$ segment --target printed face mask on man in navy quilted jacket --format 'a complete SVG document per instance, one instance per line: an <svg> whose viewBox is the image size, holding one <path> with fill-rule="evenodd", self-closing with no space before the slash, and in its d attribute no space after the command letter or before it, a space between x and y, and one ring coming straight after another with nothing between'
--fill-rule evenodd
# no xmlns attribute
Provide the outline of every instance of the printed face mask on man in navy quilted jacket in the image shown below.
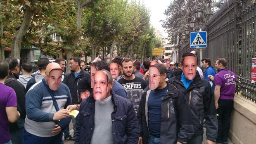
<svg viewBox="0 0 256 144"><path fill-rule="evenodd" d="M97 71L94 75L93 98L102 100L107 97L108 78L103 71Z"/></svg>

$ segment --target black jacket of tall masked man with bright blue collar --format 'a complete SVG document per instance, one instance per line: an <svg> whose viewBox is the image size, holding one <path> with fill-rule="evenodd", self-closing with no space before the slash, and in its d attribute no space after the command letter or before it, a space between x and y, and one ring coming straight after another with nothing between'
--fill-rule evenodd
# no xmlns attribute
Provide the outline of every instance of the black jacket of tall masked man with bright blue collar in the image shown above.
<svg viewBox="0 0 256 144"><path fill-rule="evenodd" d="M206 138L215 142L218 132L218 121L211 84L205 79L202 80L197 72L194 81L186 89L181 81L181 74L182 71L175 78L168 80L168 82L175 85L175 87L184 93L185 98L190 105L194 136L202 135L204 133L203 121L205 118Z"/></svg>

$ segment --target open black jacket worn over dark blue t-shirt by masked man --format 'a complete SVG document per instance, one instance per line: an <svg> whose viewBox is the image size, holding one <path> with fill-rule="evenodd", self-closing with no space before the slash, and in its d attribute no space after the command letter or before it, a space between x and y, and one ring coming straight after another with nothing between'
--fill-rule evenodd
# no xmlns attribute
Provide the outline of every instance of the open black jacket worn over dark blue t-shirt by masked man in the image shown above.
<svg viewBox="0 0 256 144"><path fill-rule="evenodd" d="M161 103L161 144L176 144L177 140L186 144L187 140L193 135L190 107L180 90L169 83L167 85L168 91ZM149 87L144 91L147 92L142 95L137 117L139 119L140 136L142 136L143 144L147 144L149 139L147 107Z"/></svg>

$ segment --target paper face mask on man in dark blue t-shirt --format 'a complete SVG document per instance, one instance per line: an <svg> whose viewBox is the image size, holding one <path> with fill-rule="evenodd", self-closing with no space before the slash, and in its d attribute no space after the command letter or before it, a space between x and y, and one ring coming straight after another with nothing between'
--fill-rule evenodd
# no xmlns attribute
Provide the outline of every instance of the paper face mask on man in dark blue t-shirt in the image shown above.
<svg viewBox="0 0 256 144"><path fill-rule="evenodd" d="M154 66L149 67L149 89L154 90L159 86L160 73Z"/></svg>

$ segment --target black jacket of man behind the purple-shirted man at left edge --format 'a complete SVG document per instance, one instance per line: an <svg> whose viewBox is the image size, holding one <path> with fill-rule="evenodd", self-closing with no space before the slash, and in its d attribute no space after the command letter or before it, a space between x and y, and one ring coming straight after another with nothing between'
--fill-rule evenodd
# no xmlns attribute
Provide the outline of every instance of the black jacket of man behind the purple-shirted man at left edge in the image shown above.
<svg viewBox="0 0 256 144"><path fill-rule="evenodd" d="M18 80L19 78L15 73L10 72L9 76L5 80L5 85L12 87L17 96L17 110L21 114L17 122L10 123L9 130L18 130L19 128L24 128L25 118L26 118L26 108L25 108L25 95L26 89Z"/></svg>

